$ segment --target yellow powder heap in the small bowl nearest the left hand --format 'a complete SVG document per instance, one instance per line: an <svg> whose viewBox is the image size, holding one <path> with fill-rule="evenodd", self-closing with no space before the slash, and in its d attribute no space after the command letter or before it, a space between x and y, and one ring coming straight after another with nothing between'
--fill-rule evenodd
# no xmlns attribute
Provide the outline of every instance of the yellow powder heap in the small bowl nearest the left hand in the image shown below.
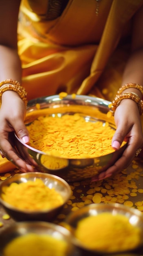
<svg viewBox="0 0 143 256"><path fill-rule="evenodd" d="M18 209L38 211L52 209L63 204L62 196L48 188L40 179L17 184L11 183L2 191L2 199Z"/></svg>

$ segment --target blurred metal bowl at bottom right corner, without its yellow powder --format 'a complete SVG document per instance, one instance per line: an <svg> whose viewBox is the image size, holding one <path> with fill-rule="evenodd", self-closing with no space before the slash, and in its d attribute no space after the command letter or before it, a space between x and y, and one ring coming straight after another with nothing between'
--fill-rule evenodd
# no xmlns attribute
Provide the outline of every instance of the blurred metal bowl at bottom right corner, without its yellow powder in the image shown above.
<svg viewBox="0 0 143 256"><path fill-rule="evenodd" d="M108 213L111 213L112 215L121 214L123 216L126 216L129 219L130 224L132 224L134 227L139 227L141 229L141 243L138 245L137 248L134 248L132 250L128 248L128 250L126 251L108 253L102 250L99 251L99 250L87 249L87 247L75 237L74 235L75 230L77 229L77 225L80 220L87 218L88 216L97 216L98 214L103 212L108 212ZM84 206L78 209L75 212L70 213L67 216L65 222L66 222L65 227L67 227L73 234L73 237L74 237L73 243L77 246L77 248L79 248L81 255L84 255L84 256L86 255L87 256L125 255L126 256L126 253L127 253L127 255L130 256L132 253L134 253L133 255L137 256L138 254L136 253L143 252L143 214L137 209L125 207L123 204L119 204L119 203L89 204L87 206ZM89 230L89 227L88 227L88 230ZM95 232L96 232L96 227L95 227ZM88 233L88 236L89 236L89 233ZM112 243L114 243L114 240L112 241Z"/></svg>

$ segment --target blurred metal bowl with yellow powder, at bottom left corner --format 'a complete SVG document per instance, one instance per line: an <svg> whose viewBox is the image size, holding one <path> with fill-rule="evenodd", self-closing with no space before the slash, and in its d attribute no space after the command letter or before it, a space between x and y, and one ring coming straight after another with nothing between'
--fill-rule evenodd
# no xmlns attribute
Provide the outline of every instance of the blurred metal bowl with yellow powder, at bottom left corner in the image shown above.
<svg viewBox="0 0 143 256"><path fill-rule="evenodd" d="M0 234L1 256L73 256L70 232L49 222L17 222Z"/></svg>

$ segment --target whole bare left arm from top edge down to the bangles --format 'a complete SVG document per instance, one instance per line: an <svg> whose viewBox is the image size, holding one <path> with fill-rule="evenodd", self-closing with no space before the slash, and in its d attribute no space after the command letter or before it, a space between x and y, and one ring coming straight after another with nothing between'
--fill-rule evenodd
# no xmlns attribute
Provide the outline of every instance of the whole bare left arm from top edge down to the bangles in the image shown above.
<svg viewBox="0 0 143 256"><path fill-rule="evenodd" d="M21 82L21 63L17 53L17 25L20 0L0 1L0 81Z"/></svg>

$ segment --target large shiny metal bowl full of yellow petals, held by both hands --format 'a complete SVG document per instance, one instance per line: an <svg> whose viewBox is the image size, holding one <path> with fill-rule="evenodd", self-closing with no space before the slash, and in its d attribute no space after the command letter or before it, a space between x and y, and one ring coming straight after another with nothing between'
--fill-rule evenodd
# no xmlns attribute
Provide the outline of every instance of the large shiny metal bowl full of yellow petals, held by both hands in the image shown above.
<svg viewBox="0 0 143 256"><path fill-rule="evenodd" d="M67 182L98 175L123 154L111 146L116 130L109 101L84 95L53 95L29 101L25 125L29 144L15 134L21 157L38 171Z"/></svg>

